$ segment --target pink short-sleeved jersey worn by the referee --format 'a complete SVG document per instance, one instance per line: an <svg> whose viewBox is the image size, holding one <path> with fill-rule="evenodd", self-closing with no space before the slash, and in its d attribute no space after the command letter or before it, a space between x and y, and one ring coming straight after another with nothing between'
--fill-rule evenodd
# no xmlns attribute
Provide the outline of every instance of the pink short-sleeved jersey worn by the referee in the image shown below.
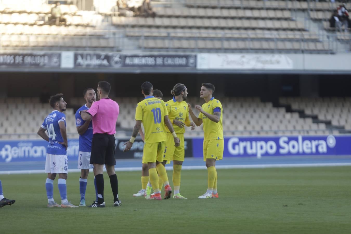
<svg viewBox="0 0 351 234"><path fill-rule="evenodd" d="M116 121L119 114L117 102L109 98L101 98L91 105L87 113L93 117L93 134L106 133L113 135L116 133Z"/></svg>

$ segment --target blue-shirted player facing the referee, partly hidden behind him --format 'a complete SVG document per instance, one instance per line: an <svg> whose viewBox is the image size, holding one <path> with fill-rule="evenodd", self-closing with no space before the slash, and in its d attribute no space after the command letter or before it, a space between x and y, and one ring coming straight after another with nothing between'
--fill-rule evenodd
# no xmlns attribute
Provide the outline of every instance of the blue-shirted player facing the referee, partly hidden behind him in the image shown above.
<svg viewBox="0 0 351 234"><path fill-rule="evenodd" d="M88 110L94 101L96 101L96 93L93 88L87 88L83 92L86 103L78 109L75 113L75 125L79 134L79 154L78 154L78 169L80 171L79 178L79 191L80 191L80 203L79 206L85 206L85 191L88 183L89 169L93 168L93 165L89 163L91 155L91 142L93 140L93 122L91 119L83 120L79 112ZM95 195L98 200L98 192L96 187L96 181L94 177Z"/></svg>

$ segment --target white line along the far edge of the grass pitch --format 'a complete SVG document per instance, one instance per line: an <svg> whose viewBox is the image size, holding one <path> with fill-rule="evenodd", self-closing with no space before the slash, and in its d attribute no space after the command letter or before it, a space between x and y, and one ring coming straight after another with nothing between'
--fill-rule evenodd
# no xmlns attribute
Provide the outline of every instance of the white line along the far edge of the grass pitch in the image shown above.
<svg viewBox="0 0 351 234"><path fill-rule="evenodd" d="M217 169L240 169L240 168L287 168L287 167L340 167L351 166L349 162L342 163L295 163L295 164L254 164L254 165L218 165ZM183 166L182 170L201 170L206 166ZM173 171L173 167L166 167L167 171ZM93 171L91 169L91 171ZM106 171L106 169L104 169ZM135 172L141 171L141 167L119 167L115 168L116 172ZM68 169L68 172L80 172L80 169ZM41 174L44 170L24 170L24 171L0 171L0 175L12 174Z"/></svg>

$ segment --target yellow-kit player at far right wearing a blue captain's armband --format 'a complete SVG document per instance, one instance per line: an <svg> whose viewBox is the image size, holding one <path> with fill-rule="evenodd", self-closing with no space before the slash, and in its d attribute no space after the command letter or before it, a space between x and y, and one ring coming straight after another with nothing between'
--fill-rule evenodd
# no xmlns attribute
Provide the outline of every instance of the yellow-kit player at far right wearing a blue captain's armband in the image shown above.
<svg viewBox="0 0 351 234"><path fill-rule="evenodd" d="M202 106L195 108L200 112L196 117L189 106L189 114L196 126L204 123L204 161L207 167L207 191L199 198L218 198L217 193L217 170L216 160L223 159L223 107L219 100L214 99L212 94L214 85L203 83L201 85L200 98L205 99Z"/></svg>

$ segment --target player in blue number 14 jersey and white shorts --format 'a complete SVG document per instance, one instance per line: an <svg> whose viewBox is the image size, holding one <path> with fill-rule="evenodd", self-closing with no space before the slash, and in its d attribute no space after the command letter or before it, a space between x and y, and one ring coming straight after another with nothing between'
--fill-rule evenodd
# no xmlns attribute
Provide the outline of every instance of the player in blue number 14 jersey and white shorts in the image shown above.
<svg viewBox="0 0 351 234"><path fill-rule="evenodd" d="M47 207L78 207L67 200L67 132L66 132L66 111L67 103L63 94L56 94L50 97L50 106L54 109L44 120L38 130L38 135L49 142L46 150L45 172L47 173L45 188L48 198ZM45 133L47 131L48 134ZM59 174L58 187L61 195L61 206L54 201L53 184L56 174Z"/></svg>

